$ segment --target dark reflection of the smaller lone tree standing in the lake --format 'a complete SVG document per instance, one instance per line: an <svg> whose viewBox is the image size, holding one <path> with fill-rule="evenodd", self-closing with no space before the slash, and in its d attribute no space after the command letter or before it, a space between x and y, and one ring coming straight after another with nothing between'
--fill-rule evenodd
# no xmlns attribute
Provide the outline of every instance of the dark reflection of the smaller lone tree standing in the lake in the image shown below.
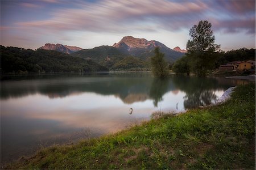
<svg viewBox="0 0 256 170"><path fill-rule="evenodd" d="M163 100L163 95L168 91L168 79L155 78L150 88L150 98L154 100L155 107Z"/></svg>

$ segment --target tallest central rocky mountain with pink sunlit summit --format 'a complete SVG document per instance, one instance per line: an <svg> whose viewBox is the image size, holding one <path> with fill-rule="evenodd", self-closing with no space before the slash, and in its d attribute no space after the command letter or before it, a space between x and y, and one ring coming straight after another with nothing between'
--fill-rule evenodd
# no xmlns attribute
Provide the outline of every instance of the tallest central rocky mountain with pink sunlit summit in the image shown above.
<svg viewBox="0 0 256 170"><path fill-rule="evenodd" d="M160 52L165 54L167 61L174 62L176 59L184 56L184 53L176 52L161 42L137 39L132 36L123 37L121 41L113 45L114 48L119 49L122 53L141 59L149 59L151 56L154 56L156 46L159 46Z"/></svg>

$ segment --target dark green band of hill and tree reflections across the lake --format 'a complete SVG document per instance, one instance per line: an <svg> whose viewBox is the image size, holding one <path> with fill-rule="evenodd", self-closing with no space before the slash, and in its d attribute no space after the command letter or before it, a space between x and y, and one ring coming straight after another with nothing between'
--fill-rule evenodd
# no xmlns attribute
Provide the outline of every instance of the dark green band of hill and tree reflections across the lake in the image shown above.
<svg viewBox="0 0 256 170"><path fill-rule="evenodd" d="M47 95L53 99L94 92L100 95L115 95L123 103L131 104L147 99L154 100L157 107L168 91L186 93L185 108L206 105L216 100L214 91L234 86L225 78L197 78L172 76L168 79L152 78L150 74L92 74L92 75L43 75L1 82L1 99L32 94Z"/></svg>

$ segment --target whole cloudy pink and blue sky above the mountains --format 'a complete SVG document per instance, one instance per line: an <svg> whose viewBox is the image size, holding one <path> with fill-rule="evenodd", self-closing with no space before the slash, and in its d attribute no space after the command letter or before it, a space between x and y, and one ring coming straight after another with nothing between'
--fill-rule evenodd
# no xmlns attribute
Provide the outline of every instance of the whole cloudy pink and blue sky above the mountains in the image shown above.
<svg viewBox="0 0 256 170"><path fill-rule="evenodd" d="M4 46L37 49L46 43L84 49L124 36L186 48L189 29L212 24L224 51L255 48L255 0L0 0Z"/></svg>

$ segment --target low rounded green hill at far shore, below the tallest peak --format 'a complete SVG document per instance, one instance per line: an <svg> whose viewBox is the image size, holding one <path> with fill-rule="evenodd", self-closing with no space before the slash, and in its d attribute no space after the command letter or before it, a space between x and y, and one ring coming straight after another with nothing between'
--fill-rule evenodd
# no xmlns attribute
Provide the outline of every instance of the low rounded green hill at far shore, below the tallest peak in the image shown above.
<svg viewBox="0 0 256 170"><path fill-rule="evenodd" d="M126 57L115 63L110 71L150 71L150 63L136 57Z"/></svg>

